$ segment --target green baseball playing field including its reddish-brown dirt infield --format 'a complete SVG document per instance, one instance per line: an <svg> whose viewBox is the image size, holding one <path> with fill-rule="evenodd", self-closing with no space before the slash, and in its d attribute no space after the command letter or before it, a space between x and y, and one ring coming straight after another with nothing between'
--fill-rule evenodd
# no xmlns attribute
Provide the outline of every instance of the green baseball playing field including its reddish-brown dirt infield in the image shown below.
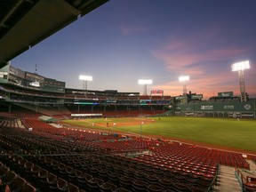
<svg viewBox="0 0 256 192"><path fill-rule="evenodd" d="M154 122L152 121L154 119ZM84 121L67 120L68 124L108 130L112 132L133 132L140 135L140 122L142 135L155 135L161 138L175 138L177 140L193 140L205 144L237 148L256 152L256 121L199 118L199 117L158 117L154 118L111 118L111 119L86 119ZM147 121L150 121L148 124ZM151 122L152 121L152 122ZM110 128L106 127L106 124ZM112 124L116 123L116 127ZM133 125L129 124L133 122ZM124 124L124 125L123 125ZM129 125L127 125L129 124Z"/></svg>

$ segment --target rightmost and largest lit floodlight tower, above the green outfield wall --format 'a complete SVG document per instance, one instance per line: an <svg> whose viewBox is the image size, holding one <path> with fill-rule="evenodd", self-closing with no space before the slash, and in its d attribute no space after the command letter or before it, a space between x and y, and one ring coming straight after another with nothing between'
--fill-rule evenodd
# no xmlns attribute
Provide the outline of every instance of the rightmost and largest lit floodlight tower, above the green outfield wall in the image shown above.
<svg viewBox="0 0 256 192"><path fill-rule="evenodd" d="M232 71L238 71L241 102L245 102L247 100L247 97L246 97L245 83L244 83L244 69L250 68L249 60L234 63L232 64L231 68L232 68Z"/></svg>

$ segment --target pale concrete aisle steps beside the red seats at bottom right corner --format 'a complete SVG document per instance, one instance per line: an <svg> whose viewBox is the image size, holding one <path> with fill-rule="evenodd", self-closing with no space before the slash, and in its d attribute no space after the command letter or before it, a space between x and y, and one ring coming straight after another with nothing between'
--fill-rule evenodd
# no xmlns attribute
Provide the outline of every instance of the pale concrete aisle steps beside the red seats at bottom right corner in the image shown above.
<svg viewBox="0 0 256 192"><path fill-rule="evenodd" d="M217 185L214 187L216 192L241 192L242 188L239 185L235 176L235 168L225 165L220 165Z"/></svg>

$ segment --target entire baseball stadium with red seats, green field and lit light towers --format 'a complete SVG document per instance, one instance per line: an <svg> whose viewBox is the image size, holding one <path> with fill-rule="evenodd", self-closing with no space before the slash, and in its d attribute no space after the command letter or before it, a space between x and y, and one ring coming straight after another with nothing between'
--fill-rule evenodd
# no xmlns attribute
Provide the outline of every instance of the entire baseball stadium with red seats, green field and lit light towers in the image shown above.
<svg viewBox="0 0 256 192"><path fill-rule="evenodd" d="M42 23L7 47L13 31L35 25L33 12L51 13L51 3L0 3L10 24L0 34L1 191L256 191L256 98L245 92L244 73L241 94L224 90L203 100L186 84L177 96L147 93L146 79L143 94L88 90L90 76L80 76L83 89L68 88L9 62L28 50L23 41L36 44L76 20L71 8L85 15L106 2L65 0L61 25Z"/></svg>

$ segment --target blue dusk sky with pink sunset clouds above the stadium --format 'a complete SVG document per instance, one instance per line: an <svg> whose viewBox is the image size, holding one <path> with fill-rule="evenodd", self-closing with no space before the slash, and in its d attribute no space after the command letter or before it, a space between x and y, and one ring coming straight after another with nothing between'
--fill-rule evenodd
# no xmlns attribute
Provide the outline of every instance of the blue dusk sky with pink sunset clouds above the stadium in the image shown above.
<svg viewBox="0 0 256 192"><path fill-rule="evenodd" d="M245 89L256 98L255 0L110 0L11 60L12 66L83 89L143 93L187 90L204 100L240 94L233 63L250 60Z"/></svg>

